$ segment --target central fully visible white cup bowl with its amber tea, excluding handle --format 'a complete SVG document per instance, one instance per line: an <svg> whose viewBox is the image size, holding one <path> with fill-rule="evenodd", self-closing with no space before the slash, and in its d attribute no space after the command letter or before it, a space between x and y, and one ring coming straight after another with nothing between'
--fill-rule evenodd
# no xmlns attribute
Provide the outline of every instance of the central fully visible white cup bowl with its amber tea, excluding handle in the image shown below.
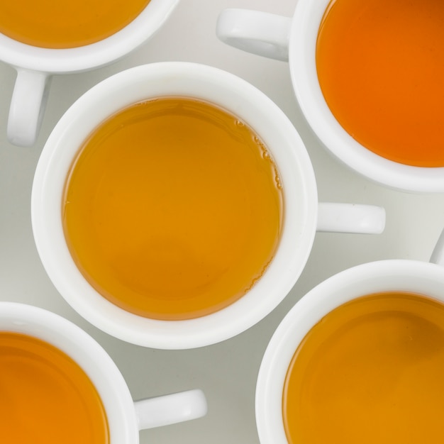
<svg viewBox="0 0 444 444"><path fill-rule="evenodd" d="M127 112L139 112L148 104L160 106L148 118L150 124L160 128L156 131L155 149L147 148L153 132L142 131L138 138L143 143L139 143L138 152L132 152L131 147L137 143L128 136L133 128L128 128L138 126L140 119L131 117L133 123L122 131L111 129L113 137L123 135L117 143L120 146L116 157L106 157L110 152L107 149L100 154L101 148L85 156L92 167L88 171L88 162L84 164L87 175L81 194L89 199L89 209L85 206L77 213L77 219L72 219L71 228L78 231L79 238L71 242L65 236L62 210L72 204L70 198L66 199L70 187L65 189L65 184L67 177L70 181L78 179L76 167L72 166L83 163L80 148L89 140L95 140L96 147L102 142L106 146L108 136L102 138L100 131L94 133L96 128L104 122L106 127L119 113L127 116ZM174 111L171 107L165 111L162 104L172 106ZM175 123L169 121L172 115ZM111 123L109 128L112 126ZM201 135L206 127L211 128L211 143L207 138L206 143L195 146L192 141L196 134ZM157 149L174 144L173 154L165 155L165 150ZM211 150L209 145L217 149ZM126 154L122 156L122 152ZM108 154L103 157L104 153ZM101 157L114 169L97 167ZM161 168L156 167L155 159L163 162ZM119 172L123 165L129 165L124 174ZM140 194L140 184L147 177L152 181L150 187L145 186L145 194ZM100 199L88 186L91 181L99 187ZM100 189L106 182L113 183L112 189ZM256 184L256 189L251 189L251 183ZM214 199L216 194L218 199ZM176 349L231 338L260 321L282 301L311 250L317 207L316 182L304 144L289 119L265 94L216 68L166 62L136 67L104 80L65 113L38 162L32 222L46 272L79 314L128 342ZM94 220L91 211L102 213ZM70 242L88 250L83 255L87 260L94 259L99 245L99 255L108 261L106 278L120 280L118 284L131 287L133 294L157 281L155 290L165 299L160 315L157 313L155 318L146 307L132 312L128 301L123 306L116 304L110 289L102 292L94 288L88 277L90 264L78 265L81 261L75 257L77 253L72 254ZM196 246L199 254L195 254ZM117 257L116 248L122 247L127 250ZM234 265L225 250L233 253L230 255L235 258ZM133 265L138 261L137 266ZM113 269L112 262L118 264L117 269ZM175 262L179 266L174 269L171 264ZM253 270L245 274L243 262L248 267L253 263ZM180 276L182 271L188 274L186 279ZM235 291L228 289L228 299L213 302L209 310L202 305L207 287L218 279L223 281L228 274L231 277L227 282L241 274L244 280ZM199 279L203 284L197 291L203 297L193 294ZM182 282L182 288L177 282ZM162 299L158 294L157 299ZM197 310L193 308L196 302L200 304ZM183 311L184 306L189 310L191 304L194 313L185 318L180 313L171 316L169 304L176 306L178 313L181 305Z"/></svg>

